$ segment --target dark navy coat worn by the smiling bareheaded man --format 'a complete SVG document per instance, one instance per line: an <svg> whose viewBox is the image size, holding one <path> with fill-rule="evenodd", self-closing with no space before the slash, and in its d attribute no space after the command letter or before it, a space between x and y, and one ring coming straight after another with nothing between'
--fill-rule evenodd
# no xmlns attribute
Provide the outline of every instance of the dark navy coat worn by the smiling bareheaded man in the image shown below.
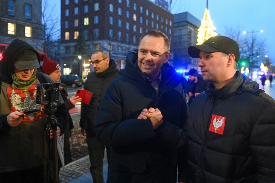
<svg viewBox="0 0 275 183"><path fill-rule="evenodd" d="M155 174L153 182L175 183L177 151L157 141L150 119L137 117L144 108L159 108L164 123L182 128L188 110L182 76L168 62L164 64L157 95L136 60L135 51L127 55L126 67L108 87L96 120L98 140L111 146L108 182L137 182L139 175L150 171Z"/></svg>

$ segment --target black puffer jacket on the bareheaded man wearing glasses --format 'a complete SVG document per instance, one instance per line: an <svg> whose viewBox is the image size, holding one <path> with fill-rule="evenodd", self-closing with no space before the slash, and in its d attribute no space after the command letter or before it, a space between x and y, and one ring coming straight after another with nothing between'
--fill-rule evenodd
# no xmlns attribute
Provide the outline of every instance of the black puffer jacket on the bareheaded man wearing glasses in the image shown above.
<svg viewBox="0 0 275 183"><path fill-rule="evenodd" d="M109 67L101 73L92 72L87 76L84 89L91 91L93 96L89 105L81 103L80 127L84 127L91 137L95 137L95 122L103 95L109 84L120 76L115 61L110 58Z"/></svg>

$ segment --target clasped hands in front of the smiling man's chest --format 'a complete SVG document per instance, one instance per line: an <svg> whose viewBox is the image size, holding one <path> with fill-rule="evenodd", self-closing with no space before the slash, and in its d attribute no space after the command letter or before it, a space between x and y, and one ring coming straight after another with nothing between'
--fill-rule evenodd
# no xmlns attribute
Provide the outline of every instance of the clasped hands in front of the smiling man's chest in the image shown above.
<svg viewBox="0 0 275 183"><path fill-rule="evenodd" d="M163 116L158 108L154 109L153 107L150 107L149 109L143 109L137 119L150 118L153 128L157 129L163 123L162 117Z"/></svg>

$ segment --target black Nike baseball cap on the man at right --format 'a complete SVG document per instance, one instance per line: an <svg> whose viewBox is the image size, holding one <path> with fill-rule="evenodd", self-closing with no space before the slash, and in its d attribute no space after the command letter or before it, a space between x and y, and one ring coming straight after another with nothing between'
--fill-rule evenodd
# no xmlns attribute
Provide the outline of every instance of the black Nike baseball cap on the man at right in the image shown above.
<svg viewBox="0 0 275 183"><path fill-rule="evenodd" d="M235 61L240 60L240 49L237 42L226 36L213 36L204 41L201 45L192 45L188 47L188 54L193 58L200 57L200 51L204 52L223 52L225 54L234 54Z"/></svg>

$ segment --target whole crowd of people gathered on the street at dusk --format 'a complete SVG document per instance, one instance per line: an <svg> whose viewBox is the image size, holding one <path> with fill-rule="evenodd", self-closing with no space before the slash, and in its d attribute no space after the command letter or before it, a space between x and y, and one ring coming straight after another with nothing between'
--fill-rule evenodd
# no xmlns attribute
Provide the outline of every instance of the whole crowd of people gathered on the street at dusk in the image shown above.
<svg viewBox="0 0 275 183"><path fill-rule="evenodd" d="M93 95L89 104L81 103L80 127L94 183L104 183L105 149L108 183L275 182L275 101L236 71L237 42L214 36L189 46L188 54L200 58L200 73L190 69L186 80L169 64L170 41L159 30L142 35L124 69L108 52L92 53L94 72L83 89ZM46 115L23 113L39 109L39 83L60 82L58 127L46 136L64 134L65 164L72 161L68 111L81 98L68 99L60 76L56 61L24 41L15 39L3 53L0 182L44 181Z"/></svg>

